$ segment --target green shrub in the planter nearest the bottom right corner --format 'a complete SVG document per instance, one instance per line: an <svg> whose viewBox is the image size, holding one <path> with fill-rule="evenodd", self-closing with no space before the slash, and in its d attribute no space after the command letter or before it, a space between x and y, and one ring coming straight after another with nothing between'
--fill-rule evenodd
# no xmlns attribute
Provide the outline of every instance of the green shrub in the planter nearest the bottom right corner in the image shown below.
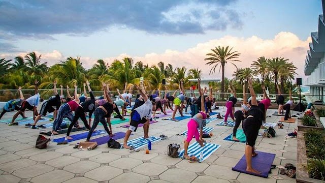
<svg viewBox="0 0 325 183"><path fill-rule="evenodd" d="M325 160L309 159L307 171L310 178L325 180Z"/></svg>

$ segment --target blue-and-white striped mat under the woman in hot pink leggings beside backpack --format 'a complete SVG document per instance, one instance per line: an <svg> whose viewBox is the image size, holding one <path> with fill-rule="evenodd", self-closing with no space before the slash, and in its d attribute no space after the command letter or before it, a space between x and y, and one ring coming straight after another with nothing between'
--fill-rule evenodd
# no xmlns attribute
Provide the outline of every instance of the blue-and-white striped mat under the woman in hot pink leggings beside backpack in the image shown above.
<svg viewBox="0 0 325 183"><path fill-rule="evenodd" d="M203 152L203 160L202 160L203 162L204 160L209 158L209 156L214 151L216 151L219 147L220 145L213 144L213 143L206 143L203 147L201 147L201 145L198 142L195 142L188 146L187 155L189 157L195 156L196 158L200 159L200 154L201 152ZM181 150L179 157L183 158L183 155L184 155L184 149Z"/></svg>

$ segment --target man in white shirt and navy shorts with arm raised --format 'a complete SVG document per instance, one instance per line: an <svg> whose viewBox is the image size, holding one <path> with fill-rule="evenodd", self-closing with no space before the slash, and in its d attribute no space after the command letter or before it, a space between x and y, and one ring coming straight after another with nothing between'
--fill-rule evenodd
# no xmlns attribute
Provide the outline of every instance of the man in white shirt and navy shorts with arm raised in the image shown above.
<svg viewBox="0 0 325 183"><path fill-rule="evenodd" d="M139 124L144 124L143 125L144 138L149 137L149 121L151 118L152 111L154 111L156 109L155 103L151 102L148 99L148 96L142 91L142 89L138 85L135 85L135 87L139 90L139 93L145 103L143 105L135 108L131 112L130 127L128 128L128 130L125 133L124 142L123 142L124 148L130 148L127 145L127 140L129 138L129 136L131 135L131 132L137 131Z"/></svg>

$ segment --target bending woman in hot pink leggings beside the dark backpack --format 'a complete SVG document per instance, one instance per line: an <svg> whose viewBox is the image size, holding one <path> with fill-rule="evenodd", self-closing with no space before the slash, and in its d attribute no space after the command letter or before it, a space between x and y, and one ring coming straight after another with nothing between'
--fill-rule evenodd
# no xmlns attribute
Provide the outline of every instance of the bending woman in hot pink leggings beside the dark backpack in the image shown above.
<svg viewBox="0 0 325 183"><path fill-rule="evenodd" d="M184 158L193 162L198 161L196 157L189 157L187 155L187 149L189 142L192 140L193 136L197 140L197 142L201 145L201 147L204 146L202 134L203 134L203 127L206 126L206 119L209 117L209 115L206 114L205 107L204 107L204 90L199 88L201 90L201 109L199 113L195 114L187 123L187 138L184 143ZM200 134L199 131L200 130Z"/></svg>

